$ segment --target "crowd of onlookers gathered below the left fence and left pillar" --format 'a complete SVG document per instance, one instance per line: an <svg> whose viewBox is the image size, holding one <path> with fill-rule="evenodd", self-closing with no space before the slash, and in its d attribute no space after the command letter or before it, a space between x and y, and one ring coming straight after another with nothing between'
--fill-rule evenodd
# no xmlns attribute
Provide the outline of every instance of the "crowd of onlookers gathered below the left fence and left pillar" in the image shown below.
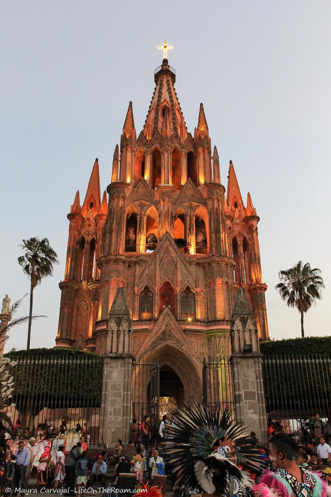
<svg viewBox="0 0 331 497"><path fill-rule="evenodd" d="M159 439L166 424L171 424L170 414L164 415L160 423ZM68 489L74 495L87 484L105 486L107 469L113 467L115 486L121 473L135 474L136 484L140 486L157 475L164 475L165 464L159 455L158 444L150 443L150 416L145 415L141 423L132 421L132 438L127 445L118 439L114 450L93 454L88 451L89 435L86 423L75 428L67 428L63 420L58 429L39 424L35 436L30 436L28 428L22 429L20 420L14 424L14 439L7 439L7 469L4 486L10 489L7 494L17 495L17 489L25 489L30 478L37 486Z"/></svg>

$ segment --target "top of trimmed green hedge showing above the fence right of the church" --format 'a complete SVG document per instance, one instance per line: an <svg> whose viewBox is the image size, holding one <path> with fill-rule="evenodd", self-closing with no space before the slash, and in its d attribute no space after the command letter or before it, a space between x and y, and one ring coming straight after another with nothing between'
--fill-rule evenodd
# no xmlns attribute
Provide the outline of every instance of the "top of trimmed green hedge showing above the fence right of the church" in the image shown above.
<svg viewBox="0 0 331 497"><path fill-rule="evenodd" d="M309 336L307 338L285 338L282 340L260 341L260 350L270 355L319 354L331 357L331 336Z"/></svg>

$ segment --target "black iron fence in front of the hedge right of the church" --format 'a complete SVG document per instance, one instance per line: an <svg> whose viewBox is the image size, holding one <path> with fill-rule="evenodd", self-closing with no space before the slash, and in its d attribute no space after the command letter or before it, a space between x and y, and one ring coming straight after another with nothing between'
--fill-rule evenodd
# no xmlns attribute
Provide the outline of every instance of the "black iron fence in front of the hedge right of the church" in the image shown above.
<svg viewBox="0 0 331 497"><path fill-rule="evenodd" d="M262 362L269 423L304 441L314 436L315 416L331 420L331 359L270 356Z"/></svg>

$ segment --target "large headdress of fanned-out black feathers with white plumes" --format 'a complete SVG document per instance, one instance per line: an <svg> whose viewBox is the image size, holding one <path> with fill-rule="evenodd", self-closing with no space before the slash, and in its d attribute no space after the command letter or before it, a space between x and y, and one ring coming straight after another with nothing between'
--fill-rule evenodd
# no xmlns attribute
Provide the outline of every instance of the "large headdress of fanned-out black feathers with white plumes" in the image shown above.
<svg viewBox="0 0 331 497"><path fill-rule="evenodd" d="M235 486L252 486L252 480L237 465L256 474L266 468L250 433L232 420L227 409L222 413L220 407L211 411L200 404L184 406L176 413L175 425L167 425L164 434L168 436L162 442L164 454L178 486L199 485L208 494L223 494L229 489L231 477ZM235 447L236 463L231 459L230 446L215 450L218 440L227 438Z"/></svg>

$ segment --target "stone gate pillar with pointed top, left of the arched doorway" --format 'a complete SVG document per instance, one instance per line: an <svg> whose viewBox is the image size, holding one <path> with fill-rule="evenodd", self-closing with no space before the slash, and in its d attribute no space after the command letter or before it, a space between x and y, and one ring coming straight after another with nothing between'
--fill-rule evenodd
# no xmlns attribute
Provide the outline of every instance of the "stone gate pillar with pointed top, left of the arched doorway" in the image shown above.
<svg viewBox="0 0 331 497"><path fill-rule="evenodd" d="M130 437L132 383L132 319L123 287L117 289L109 312L107 334L97 349L103 357L99 440L114 447Z"/></svg>

